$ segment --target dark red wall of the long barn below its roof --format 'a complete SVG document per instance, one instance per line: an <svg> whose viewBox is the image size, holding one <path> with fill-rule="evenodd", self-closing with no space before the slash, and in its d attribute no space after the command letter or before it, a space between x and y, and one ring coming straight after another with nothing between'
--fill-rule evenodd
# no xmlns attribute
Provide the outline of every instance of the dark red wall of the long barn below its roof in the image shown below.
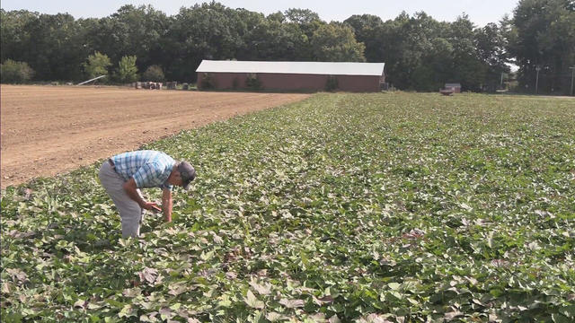
<svg viewBox="0 0 575 323"><path fill-rule="evenodd" d="M245 89L246 73L210 73L216 89ZM265 90L324 91L328 75L321 74L257 74ZM198 73L198 84L204 73ZM339 91L379 92L380 76L335 75ZM235 80L235 81L234 81ZM235 86L234 86L235 85Z"/></svg>

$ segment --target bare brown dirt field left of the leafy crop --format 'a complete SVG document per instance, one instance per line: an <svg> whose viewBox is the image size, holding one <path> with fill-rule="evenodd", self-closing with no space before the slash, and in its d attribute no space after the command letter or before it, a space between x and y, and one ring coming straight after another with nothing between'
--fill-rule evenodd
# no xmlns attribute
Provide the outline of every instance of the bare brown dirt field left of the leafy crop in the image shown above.
<svg viewBox="0 0 575 323"><path fill-rule="evenodd" d="M309 94L2 85L2 188Z"/></svg>

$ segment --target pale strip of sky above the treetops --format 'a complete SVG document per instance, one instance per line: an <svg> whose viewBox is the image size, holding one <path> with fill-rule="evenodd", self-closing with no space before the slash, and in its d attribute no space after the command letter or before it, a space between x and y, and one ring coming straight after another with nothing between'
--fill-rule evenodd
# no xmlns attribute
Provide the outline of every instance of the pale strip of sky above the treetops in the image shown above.
<svg viewBox="0 0 575 323"><path fill-rule="evenodd" d="M183 0L2 0L6 11L25 9L38 13L70 13L78 18L102 18L115 13L124 4L151 4L168 15L177 14L182 6L190 7L207 1ZM289 8L310 9L326 22L342 22L352 14L374 14L384 21L394 19L405 11L412 15L423 11L438 21L453 22L466 13L477 27L499 22L507 13L513 16L518 0L219 0L231 8L244 8L258 13L276 13Z"/></svg>

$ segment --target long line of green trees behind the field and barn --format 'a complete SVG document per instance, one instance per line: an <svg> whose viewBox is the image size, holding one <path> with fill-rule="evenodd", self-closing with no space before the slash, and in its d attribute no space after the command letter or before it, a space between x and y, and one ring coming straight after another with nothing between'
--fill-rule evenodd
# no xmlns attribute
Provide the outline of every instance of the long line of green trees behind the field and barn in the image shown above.
<svg viewBox="0 0 575 323"><path fill-rule="evenodd" d="M575 1L520 0L512 17L476 27L462 14L438 22L426 13L383 21L352 15L324 22L307 9L264 15L217 2L168 16L151 5L103 18L0 11L3 82L81 81L110 74L195 82L202 59L385 62L403 90L437 91L461 83L495 91L516 64L518 89L569 93L575 65Z"/></svg>

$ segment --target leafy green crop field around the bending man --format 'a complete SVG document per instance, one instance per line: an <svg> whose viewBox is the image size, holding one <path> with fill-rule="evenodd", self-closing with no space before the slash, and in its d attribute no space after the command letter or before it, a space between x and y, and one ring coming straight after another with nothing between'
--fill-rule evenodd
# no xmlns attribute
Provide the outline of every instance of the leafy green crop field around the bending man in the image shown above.
<svg viewBox="0 0 575 323"><path fill-rule="evenodd" d="M575 320L575 100L318 94L146 148L198 179L137 240L101 162L2 192L3 322Z"/></svg>

